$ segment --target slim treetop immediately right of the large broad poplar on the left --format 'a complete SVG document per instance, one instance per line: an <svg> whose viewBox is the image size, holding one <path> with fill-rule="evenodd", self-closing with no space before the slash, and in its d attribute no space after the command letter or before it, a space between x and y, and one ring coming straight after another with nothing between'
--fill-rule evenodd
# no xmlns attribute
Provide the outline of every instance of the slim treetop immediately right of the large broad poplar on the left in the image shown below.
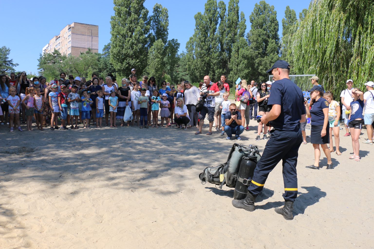
<svg viewBox="0 0 374 249"><path fill-rule="evenodd" d="M164 44L168 42L169 36L169 13L168 9L156 3L153 6L153 15L150 16L151 22L151 46L154 41L161 40Z"/></svg>

